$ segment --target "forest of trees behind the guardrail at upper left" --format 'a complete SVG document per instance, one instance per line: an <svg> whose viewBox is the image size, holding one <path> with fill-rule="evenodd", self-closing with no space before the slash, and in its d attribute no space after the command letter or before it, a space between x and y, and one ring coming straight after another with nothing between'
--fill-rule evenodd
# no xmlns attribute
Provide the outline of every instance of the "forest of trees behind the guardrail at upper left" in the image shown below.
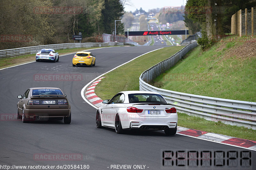
<svg viewBox="0 0 256 170"><path fill-rule="evenodd" d="M111 34L127 0L1 0L0 35L32 35L31 42L0 41L0 49L74 42ZM116 22L117 34L124 24Z"/></svg>

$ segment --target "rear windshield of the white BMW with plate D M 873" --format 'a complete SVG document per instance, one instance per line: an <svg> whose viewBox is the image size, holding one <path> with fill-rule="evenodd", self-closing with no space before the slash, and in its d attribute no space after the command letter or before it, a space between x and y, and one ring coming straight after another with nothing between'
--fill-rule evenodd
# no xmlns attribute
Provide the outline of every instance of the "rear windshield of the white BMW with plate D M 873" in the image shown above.
<svg viewBox="0 0 256 170"><path fill-rule="evenodd" d="M129 94L129 103L166 103L163 96L158 94L137 93Z"/></svg>

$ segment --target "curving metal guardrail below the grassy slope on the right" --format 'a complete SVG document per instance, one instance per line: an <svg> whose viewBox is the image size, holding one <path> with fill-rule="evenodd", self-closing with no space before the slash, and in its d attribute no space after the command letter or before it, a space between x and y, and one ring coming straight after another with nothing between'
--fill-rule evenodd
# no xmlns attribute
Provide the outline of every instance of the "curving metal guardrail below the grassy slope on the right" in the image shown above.
<svg viewBox="0 0 256 170"><path fill-rule="evenodd" d="M208 96L199 96L156 88L147 82L174 66L182 56L196 46L196 42L182 48L170 58L149 68L140 75L140 90L156 91L177 111L203 117L206 120L221 121L226 124L245 126L256 129L256 103ZM146 82L145 82L146 81Z"/></svg>

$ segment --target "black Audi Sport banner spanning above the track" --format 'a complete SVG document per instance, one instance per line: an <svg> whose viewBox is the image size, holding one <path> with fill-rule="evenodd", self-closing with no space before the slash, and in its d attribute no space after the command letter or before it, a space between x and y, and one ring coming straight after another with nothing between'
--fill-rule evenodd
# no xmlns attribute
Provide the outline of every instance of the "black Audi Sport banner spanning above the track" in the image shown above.
<svg viewBox="0 0 256 170"><path fill-rule="evenodd" d="M129 31L129 36L139 35L185 35L186 30L168 30L168 31ZM188 34L188 30L187 30ZM125 32L127 36L127 31Z"/></svg>

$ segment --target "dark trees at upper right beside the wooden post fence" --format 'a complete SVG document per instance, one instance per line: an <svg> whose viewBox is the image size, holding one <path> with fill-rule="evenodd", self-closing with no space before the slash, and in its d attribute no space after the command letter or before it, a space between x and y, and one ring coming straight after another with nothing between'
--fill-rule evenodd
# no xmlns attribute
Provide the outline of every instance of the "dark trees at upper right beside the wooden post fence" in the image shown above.
<svg viewBox="0 0 256 170"><path fill-rule="evenodd" d="M187 0L184 21L193 33L202 29L215 39L230 33L233 14L255 5L255 0Z"/></svg>

